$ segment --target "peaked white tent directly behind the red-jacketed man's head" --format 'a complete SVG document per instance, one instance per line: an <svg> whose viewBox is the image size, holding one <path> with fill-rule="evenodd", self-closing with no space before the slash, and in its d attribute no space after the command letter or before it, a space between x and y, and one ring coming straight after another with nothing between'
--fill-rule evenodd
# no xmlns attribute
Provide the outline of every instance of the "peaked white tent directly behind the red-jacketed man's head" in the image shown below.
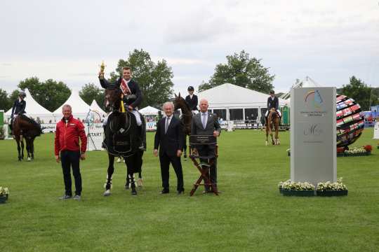
<svg viewBox="0 0 379 252"><path fill-rule="evenodd" d="M72 107L72 116L74 116L74 118L80 118L81 120L85 120L90 111L90 106L81 99L79 92L77 90L71 90L71 95L67 101L53 112L57 121L62 117L62 107L65 104L69 104Z"/></svg>

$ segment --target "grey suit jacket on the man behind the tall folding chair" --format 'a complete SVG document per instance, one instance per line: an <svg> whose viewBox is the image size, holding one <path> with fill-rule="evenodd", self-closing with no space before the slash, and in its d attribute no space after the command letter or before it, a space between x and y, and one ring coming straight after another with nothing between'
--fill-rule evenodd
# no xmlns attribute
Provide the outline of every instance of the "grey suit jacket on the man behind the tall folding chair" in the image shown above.
<svg viewBox="0 0 379 252"><path fill-rule="evenodd" d="M220 124L218 123L217 116L208 111L208 120L206 122L206 127L204 129L203 124L201 123L201 112L197 113L192 118L192 135L213 135L213 132L217 130L221 132Z"/></svg>

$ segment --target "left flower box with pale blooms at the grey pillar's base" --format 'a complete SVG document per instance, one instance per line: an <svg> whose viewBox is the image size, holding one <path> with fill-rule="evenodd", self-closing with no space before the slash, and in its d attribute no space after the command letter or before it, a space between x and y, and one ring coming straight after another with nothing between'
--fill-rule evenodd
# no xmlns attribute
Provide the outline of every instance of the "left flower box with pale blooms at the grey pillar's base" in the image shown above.
<svg viewBox="0 0 379 252"><path fill-rule="evenodd" d="M279 192L285 196L314 196L314 185L308 182L284 181L279 183Z"/></svg>

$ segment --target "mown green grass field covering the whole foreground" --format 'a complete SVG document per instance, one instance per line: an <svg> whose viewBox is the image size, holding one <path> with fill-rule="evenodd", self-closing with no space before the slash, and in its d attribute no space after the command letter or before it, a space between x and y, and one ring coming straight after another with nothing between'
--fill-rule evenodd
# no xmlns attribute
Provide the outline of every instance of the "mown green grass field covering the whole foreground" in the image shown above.
<svg viewBox="0 0 379 252"><path fill-rule="evenodd" d="M371 144L367 157L338 158L347 197L284 197L277 183L289 178L288 132L281 146L265 146L260 131L222 132L220 196L189 197L197 169L182 161L185 195L159 195L159 160L148 134L144 187L124 189L126 167L116 164L112 195L103 197L107 155L88 152L81 162L81 202L60 201L62 169L53 134L35 141L35 160L18 162L15 141L0 141L0 251L379 251L379 150L373 130L354 146Z"/></svg>

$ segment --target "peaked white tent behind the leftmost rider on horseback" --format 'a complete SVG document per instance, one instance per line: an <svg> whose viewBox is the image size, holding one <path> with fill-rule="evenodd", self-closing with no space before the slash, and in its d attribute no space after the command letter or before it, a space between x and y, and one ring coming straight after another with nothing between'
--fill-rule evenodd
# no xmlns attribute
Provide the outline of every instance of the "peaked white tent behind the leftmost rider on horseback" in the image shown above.
<svg viewBox="0 0 379 252"><path fill-rule="evenodd" d="M43 106L41 106L38 102L36 102L36 100L33 99L32 94L30 94L27 88L25 88L25 94L25 112L27 113L27 116L34 118L34 120L36 120L38 117L41 121L44 121L44 123L48 123L49 120L53 120L53 113L51 113ZM12 109L6 111L6 116L11 117L11 114Z"/></svg>

